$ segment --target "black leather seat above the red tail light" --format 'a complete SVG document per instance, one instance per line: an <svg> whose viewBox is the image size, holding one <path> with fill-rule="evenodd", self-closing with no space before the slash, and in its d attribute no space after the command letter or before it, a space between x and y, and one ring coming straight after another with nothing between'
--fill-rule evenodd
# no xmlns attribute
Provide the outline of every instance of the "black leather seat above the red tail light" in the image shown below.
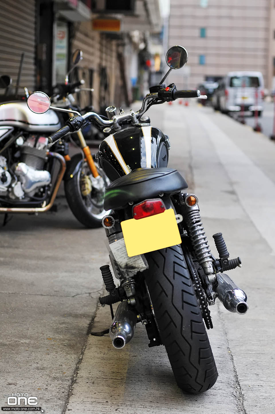
<svg viewBox="0 0 275 414"><path fill-rule="evenodd" d="M173 168L137 168L117 178L105 191L104 209L118 210L129 202L155 198L159 193L176 193L188 188L179 171Z"/></svg>

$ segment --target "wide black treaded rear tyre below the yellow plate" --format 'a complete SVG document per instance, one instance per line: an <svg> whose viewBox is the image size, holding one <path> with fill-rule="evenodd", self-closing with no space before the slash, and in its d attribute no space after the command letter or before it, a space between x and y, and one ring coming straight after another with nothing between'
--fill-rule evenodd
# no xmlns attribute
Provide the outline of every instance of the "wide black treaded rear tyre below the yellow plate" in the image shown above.
<svg viewBox="0 0 275 414"><path fill-rule="evenodd" d="M218 373L181 247L155 250L146 258L145 282L176 382L191 394L207 391Z"/></svg>

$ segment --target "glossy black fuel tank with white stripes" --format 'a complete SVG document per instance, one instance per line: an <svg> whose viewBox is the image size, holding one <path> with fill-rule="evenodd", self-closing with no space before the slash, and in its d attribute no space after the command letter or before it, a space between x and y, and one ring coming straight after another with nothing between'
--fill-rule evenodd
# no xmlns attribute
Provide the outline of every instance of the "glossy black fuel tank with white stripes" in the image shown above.
<svg viewBox="0 0 275 414"><path fill-rule="evenodd" d="M99 145L99 165L111 181L136 168L166 167L169 138L158 128L129 126Z"/></svg>

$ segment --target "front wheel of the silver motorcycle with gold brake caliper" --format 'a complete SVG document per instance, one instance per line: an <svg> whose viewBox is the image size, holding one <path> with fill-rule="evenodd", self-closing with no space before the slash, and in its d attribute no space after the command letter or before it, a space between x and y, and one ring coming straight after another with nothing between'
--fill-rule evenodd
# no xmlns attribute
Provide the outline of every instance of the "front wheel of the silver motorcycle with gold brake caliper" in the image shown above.
<svg viewBox="0 0 275 414"><path fill-rule="evenodd" d="M78 158L72 158L71 171L78 165ZM99 180L91 175L86 161L80 163L77 172L64 183L65 196L72 213L84 226L92 229L101 227L101 220L108 212L104 210L105 188L109 178L96 166Z"/></svg>

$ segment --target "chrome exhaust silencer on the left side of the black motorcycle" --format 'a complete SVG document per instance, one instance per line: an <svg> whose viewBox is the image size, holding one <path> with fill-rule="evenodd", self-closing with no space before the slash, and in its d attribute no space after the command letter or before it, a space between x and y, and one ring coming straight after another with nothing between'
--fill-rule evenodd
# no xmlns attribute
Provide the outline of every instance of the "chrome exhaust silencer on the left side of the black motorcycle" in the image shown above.
<svg viewBox="0 0 275 414"><path fill-rule="evenodd" d="M133 338L137 315L128 308L127 301L121 302L113 318L113 323L109 330L115 348L123 348L130 339Z"/></svg>

